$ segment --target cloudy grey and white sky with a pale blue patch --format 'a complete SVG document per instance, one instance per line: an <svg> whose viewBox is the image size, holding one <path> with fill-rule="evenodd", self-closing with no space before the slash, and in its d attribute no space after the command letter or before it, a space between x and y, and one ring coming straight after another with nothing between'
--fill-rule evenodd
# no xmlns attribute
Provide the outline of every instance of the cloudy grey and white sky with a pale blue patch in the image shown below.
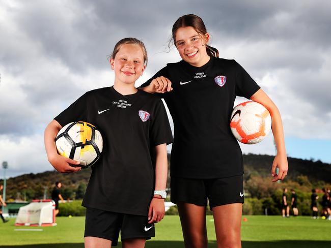
<svg viewBox="0 0 331 248"><path fill-rule="evenodd" d="M8 176L51 170L47 123L87 90L113 84L115 43L144 41L149 64L139 86L180 60L167 45L173 23L189 13L202 17L220 57L236 59L278 106L288 156L331 163L330 10L316 0L1 0L0 163L8 161ZM275 152L272 135L241 147Z"/></svg>

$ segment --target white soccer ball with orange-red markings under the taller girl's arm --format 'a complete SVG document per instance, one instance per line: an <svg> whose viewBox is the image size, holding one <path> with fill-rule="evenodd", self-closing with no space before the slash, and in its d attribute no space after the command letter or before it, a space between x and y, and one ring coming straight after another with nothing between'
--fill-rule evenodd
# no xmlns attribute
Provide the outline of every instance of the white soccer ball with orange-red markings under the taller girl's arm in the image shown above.
<svg viewBox="0 0 331 248"><path fill-rule="evenodd" d="M243 102L232 111L230 128L234 137L244 144L261 142L270 132L269 111L257 102Z"/></svg>

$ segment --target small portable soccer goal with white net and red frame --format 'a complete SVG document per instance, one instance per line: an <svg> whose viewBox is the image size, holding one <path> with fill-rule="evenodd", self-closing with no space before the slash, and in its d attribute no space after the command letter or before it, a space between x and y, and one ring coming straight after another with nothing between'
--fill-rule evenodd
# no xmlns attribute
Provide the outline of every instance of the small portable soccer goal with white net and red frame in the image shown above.
<svg viewBox="0 0 331 248"><path fill-rule="evenodd" d="M53 200L33 200L20 207L15 226L56 226L55 202Z"/></svg>

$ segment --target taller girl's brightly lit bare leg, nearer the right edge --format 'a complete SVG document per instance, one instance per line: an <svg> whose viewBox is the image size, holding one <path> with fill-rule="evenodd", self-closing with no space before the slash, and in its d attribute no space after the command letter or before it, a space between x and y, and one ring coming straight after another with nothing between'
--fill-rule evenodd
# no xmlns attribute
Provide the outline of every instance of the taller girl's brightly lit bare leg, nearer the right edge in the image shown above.
<svg viewBox="0 0 331 248"><path fill-rule="evenodd" d="M212 208L217 247L241 247L240 226L242 203L232 203Z"/></svg>

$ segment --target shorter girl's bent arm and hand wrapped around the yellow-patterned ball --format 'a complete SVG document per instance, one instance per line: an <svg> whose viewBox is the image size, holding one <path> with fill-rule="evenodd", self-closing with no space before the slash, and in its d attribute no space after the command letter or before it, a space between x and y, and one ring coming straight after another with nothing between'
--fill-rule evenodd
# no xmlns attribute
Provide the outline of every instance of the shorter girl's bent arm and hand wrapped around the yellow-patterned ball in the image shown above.
<svg viewBox="0 0 331 248"><path fill-rule="evenodd" d="M56 120L52 120L51 122L49 122L45 129L44 140L48 161L57 171L62 173L79 171L81 170L81 167L72 167L69 165L79 165L78 161L65 158L57 152L55 138L57 137L61 129L62 126Z"/></svg>

